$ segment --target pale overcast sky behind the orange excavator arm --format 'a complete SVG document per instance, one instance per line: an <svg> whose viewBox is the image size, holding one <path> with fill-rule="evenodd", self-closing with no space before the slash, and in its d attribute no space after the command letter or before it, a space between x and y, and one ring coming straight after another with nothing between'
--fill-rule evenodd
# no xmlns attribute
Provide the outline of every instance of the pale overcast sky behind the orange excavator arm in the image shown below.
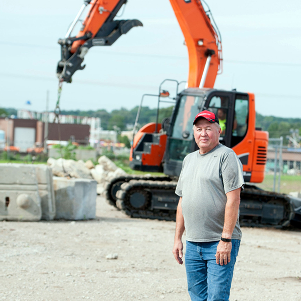
<svg viewBox="0 0 301 301"><path fill-rule="evenodd" d="M82 3L0 2L0 106L43 111L49 90L49 107L54 109L60 60L57 40L65 36ZM255 93L256 111L263 115L301 117L300 2L207 3L223 45L223 73L215 88ZM121 19L138 19L143 27L131 29L110 47L89 50L86 68L73 75L72 84L63 85L62 109L131 109L143 93L158 93L164 79L187 79L187 49L168 0L128 0ZM173 93L173 86L165 88ZM157 99L145 99L145 105L155 107Z"/></svg>

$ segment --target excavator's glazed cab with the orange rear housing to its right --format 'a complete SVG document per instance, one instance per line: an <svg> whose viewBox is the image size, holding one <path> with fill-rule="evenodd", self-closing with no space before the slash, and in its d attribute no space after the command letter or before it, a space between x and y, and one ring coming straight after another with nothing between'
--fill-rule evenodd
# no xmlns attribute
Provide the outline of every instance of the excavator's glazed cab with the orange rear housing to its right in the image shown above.
<svg viewBox="0 0 301 301"><path fill-rule="evenodd" d="M254 95L235 90L188 88L180 93L168 133L164 173L178 177L185 156L198 149L192 127L194 117L202 110L212 111L219 118L220 143L238 155L245 181L262 182L268 133L255 130Z"/></svg>

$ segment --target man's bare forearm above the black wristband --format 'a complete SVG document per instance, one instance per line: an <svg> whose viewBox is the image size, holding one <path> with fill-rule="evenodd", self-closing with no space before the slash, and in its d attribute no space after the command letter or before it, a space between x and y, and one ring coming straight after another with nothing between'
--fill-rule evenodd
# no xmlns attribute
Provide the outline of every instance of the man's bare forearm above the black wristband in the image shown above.
<svg viewBox="0 0 301 301"><path fill-rule="evenodd" d="M240 204L240 188L230 191L227 194L227 203L225 208L225 221L222 237L230 239L235 228L239 204Z"/></svg>

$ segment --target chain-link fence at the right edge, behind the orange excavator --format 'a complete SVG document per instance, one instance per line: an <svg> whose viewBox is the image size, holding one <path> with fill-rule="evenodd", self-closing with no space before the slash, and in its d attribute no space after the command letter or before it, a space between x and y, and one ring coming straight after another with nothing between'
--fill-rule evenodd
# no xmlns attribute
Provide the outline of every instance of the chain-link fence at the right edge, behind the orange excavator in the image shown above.
<svg viewBox="0 0 301 301"><path fill-rule="evenodd" d="M279 193L301 192L301 148L283 146L283 138L270 138L264 181L257 185Z"/></svg>

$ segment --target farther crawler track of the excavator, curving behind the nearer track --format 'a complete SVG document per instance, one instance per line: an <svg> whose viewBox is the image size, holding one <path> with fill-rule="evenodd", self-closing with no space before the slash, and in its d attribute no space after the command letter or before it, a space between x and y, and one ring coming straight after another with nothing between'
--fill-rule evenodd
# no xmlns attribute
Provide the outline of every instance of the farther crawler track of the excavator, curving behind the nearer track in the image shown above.
<svg viewBox="0 0 301 301"><path fill-rule="evenodd" d="M105 188L105 198L110 205L117 207L116 199L111 194L113 186L118 182L127 183L131 180L172 181L170 177L153 177L153 176L144 176L144 175L126 175L126 176L118 176L112 178Z"/></svg>

